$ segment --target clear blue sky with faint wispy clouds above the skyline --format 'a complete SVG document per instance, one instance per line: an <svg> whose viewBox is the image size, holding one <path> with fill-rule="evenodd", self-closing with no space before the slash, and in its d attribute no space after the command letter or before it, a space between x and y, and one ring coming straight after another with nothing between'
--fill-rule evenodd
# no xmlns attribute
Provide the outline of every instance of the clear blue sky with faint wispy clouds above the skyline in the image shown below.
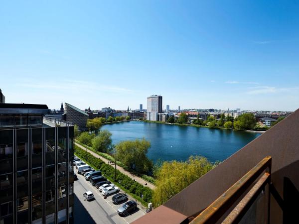
<svg viewBox="0 0 299 224"><path fill-rule="evenodd" d="M7 103L299 108L299 1L3 1Z"/></svg>

